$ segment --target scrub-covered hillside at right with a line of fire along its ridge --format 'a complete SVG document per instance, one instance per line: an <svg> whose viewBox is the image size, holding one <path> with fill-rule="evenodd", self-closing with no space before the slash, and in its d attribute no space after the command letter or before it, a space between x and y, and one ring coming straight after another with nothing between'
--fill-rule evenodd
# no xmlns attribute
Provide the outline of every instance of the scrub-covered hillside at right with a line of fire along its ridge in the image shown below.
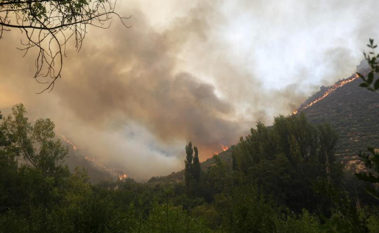
<svg viewBox="0 0 379 233"><path fill-rule="evenodd" d="M359 70L361 73L367 71L367 67ZM355 74L348 79L354 77ZM359 87L360 83L361 79L354 79L302 110L329 89L321 87L298 110L298 113L304 113L311 122L329 122L337 130L340 137L336 154L341 159L350 159L367 147L379 147L379 122L376 120L379 116L379 95Z"/></svg>

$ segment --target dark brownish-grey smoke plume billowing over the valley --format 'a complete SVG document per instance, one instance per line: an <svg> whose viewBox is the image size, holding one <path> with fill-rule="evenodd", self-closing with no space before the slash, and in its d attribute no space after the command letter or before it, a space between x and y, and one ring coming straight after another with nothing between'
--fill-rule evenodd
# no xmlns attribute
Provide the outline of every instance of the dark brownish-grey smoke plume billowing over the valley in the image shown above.
<svg viewBox="0 0 379 233"><path fill-rule="evenodd" d="M174 71L175 53L185 38L205 33L199 20L183 21L162 33L141 17L130 30L108 30L108 43L91 41L80 60L68 59L70 69L54 94L84 123L98 127L116 117L144 125L164 141L193 140L204 149L232 142L241 133L228 119L232 103L219 99L213 85Z"/></svg>

